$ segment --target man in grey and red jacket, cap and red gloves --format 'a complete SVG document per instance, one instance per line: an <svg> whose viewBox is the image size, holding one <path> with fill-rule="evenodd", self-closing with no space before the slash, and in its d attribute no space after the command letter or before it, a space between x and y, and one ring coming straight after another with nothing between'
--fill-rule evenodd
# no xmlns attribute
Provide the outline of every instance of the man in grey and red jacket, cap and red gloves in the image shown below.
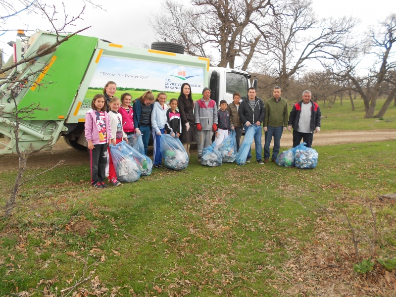
<svg viewBox="0 0 396 297"><path fill-rule="evenodd" d="M201 160L202 150L210 147L213 132L217 130L217 104L214 100L210 99L210 94L210 89L204 88L202 98L195 102L194 107L199 162Z"/></svg>

